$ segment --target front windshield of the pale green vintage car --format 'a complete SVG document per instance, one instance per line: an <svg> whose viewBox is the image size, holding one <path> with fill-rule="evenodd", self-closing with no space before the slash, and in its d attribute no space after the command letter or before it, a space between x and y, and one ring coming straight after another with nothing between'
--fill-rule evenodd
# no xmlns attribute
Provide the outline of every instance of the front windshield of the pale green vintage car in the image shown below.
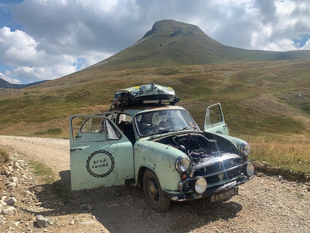
<svg viewBox="0 0 310 233"><path fill-rule="evenodd" d="M137 115L135 122L140 136L198 128L192 117L184 110L147 112Z"/></svg>

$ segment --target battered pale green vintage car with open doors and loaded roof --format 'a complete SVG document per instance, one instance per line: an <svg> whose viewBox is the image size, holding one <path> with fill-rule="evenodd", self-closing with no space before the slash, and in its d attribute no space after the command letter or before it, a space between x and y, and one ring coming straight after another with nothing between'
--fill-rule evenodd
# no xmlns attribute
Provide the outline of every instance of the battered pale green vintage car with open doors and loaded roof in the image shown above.
<svg viewBox="0 0 310 233"><path fill-rule="evenodd" d="M228 136L219 103L201 130L177 102L172 88L148 84L118 90L106 113L70 116L72 190L143 187L158 212L170 201L237 195L255 174L250 145Z"/></svg>

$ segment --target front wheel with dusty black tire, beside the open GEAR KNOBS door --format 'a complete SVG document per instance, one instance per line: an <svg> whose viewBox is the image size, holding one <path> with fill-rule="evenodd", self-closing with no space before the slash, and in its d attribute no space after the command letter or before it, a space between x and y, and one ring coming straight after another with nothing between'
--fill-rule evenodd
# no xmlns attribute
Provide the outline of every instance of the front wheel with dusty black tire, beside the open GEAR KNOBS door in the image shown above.
<svg viewBox="0 0 310 233"><path fill-rule="evenodd" d="M147 169L143 175L143 190L146 202L157 212L163 212L170 206L170 198L166 197L162 191L155 172Z"/></svg>

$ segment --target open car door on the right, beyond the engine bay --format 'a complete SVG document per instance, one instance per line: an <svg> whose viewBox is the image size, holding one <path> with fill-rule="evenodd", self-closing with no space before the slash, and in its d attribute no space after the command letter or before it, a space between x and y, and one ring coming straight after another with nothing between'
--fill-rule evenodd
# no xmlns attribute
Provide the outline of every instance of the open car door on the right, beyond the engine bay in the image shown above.
<svg viewBox="0 0 310 233"><path fill-rule="evenodd" d="M206 110L203 130L210 133L228 135L228 127L225 124L221 104L213 104Z"/></svg>

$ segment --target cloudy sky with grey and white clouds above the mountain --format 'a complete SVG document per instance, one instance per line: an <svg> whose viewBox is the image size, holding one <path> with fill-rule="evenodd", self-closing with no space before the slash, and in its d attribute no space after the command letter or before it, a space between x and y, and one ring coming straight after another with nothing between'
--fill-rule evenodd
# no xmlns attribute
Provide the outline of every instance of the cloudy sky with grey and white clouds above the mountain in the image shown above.
<svg viewBox="0 0 310 233"><path fill-rule="evenodd" d="M309 0L0 0L0 78L55 79L132 45L161 19L224 45L310 49Z"/></svg>

